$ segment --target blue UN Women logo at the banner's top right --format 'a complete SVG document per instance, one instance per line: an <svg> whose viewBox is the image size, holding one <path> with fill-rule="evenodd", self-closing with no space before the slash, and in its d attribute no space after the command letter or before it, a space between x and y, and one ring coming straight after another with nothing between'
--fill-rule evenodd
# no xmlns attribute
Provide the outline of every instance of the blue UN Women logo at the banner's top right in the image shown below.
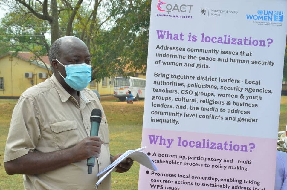
<svg viewBox="0 0 287 190"><path fill-rule="evenodd" d="M258 10L257 14L254 15L246 14L246 18L248 20L283 22L283 11Z"/></svg>

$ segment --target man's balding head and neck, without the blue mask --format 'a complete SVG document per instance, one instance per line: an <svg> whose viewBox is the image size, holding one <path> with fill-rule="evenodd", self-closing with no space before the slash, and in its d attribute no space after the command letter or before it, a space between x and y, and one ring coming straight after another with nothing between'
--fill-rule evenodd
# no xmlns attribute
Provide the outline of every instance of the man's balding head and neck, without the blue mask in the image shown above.
<svg viewBox="0 0 287 190"><path fill-rule="evenodd" d="M91 64L91 56L86 44L77 37L65 36L57 39L50 48L49 61L53 74L67 91L73 89L64 81L65 65ZM63 66L64 65L64 66ZM62 75L62 76L61 76Z"/></svg>

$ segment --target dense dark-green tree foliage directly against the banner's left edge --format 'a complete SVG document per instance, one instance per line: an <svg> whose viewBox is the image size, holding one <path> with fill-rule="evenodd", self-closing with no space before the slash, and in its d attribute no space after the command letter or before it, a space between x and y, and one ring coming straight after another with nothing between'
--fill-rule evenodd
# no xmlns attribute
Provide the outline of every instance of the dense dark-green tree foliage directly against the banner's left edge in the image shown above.
<svg viewBox="0 0 287 190"><path fill-rule="evenodd" d="M111 14L109 28L102 39L97 38L98 46L92 52L96 62L105 65L101 72L146 73L150 7L149 0L117 1L116 6L106 7Z"/></svg>

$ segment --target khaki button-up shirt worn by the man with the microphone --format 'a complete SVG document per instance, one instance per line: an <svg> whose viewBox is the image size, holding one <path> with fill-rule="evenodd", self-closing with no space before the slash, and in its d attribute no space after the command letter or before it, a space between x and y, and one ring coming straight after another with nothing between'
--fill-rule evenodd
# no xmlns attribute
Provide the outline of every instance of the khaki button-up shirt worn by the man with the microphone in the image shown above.
<svg viewBox="0 0 287 190"><path fill-rule="evenodd" d="M79 104L54 75L28 88L19 98L12 114L4 162L28 152L53 152L75 146L90 135L92 109L102 110L98 136L104 144L93 173L88 174L87 160L82 160L43 174L23 175L25 189L94 189L99 179L96 174L110 164L108 124L99 99L85 88L80 91ZM111 189L110 175L98 186L101 189Z"/></svg>

